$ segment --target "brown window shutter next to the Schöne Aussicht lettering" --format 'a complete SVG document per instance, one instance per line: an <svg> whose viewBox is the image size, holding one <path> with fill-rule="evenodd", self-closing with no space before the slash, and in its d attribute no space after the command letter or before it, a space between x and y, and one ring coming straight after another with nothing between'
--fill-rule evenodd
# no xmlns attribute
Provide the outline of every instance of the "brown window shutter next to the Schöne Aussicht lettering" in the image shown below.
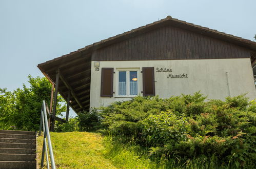
<svg viewBox="0 0 256 169"><path fill-rule="evenodd" d="M143 96L155 96L154 68L142 68Z"/></svg>

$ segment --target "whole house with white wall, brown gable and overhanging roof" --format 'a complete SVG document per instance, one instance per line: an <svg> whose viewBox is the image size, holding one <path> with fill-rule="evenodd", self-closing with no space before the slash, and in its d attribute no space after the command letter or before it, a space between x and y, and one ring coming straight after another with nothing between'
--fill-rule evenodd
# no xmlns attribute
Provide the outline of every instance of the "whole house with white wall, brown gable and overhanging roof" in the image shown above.
<svg viewBox="0 0 256 169"><path fill-rule="evenodd" d="M80 112L137 95L254 99L255 65L254 41L167 16L37 67Z"/></svg>

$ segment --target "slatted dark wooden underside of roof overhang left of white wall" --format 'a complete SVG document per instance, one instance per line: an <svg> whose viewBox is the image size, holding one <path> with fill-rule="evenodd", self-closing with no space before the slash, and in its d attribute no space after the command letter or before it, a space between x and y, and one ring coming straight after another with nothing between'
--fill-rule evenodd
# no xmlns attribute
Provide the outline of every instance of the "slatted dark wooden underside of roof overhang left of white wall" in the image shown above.
<svg viewBox="0 0 256 169"><path fill-rule="evenodd" d="M91 54L76 52L72 57L64 55L37 66L51 83L56 83L59 74L58 92L67 101L70 92L70 107L76 112L88 111L90 104Z"/></svg>

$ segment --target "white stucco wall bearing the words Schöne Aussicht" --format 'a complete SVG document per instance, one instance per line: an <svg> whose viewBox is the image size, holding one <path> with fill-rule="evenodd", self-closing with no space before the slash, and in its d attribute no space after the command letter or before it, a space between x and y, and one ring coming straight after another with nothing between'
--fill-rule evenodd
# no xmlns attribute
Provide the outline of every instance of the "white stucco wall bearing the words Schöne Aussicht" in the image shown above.
<svg viewBox="0 0 256 169"><path fill-rule="evenodd" d="M154 67L155 95L168 98L172 95L193 94L196 91L208 95L208 99L224 99L247 93L256 98L252 68L249 58L243 59L199 59L199 60L145 60L145 61L101 61L100 70L91 64L90 107L107 106L114 101L130 98L117 97L117 73L114 74L113 97L101 97L101 68ZM156 72L156 68L172 69L172 72ZM227 72L227 73L226 73ZM188 78L167 78L169 74L188 75ZM228 77L228 82L227 82ZM142 73L138 75L139 94L142 91ZM228 85L229 83L229 89ZM230 91L230 92L229 92Z"/></svg>

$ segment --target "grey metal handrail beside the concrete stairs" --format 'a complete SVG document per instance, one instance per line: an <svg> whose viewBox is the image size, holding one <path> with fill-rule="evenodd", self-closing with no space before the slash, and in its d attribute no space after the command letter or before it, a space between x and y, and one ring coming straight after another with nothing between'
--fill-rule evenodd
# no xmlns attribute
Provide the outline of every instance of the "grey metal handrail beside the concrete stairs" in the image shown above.
<svg viewBox="0 0 256 169"><path fill-rule="evenodd" d="M41 110L41 120L40 120L40 130L39 130L39 136L41 136L42 131L42 124L43 124L43 130L44 130L44 143L43 143L43 151L42 151L42 159L41 159L41 168L44 166L44 158L45 158L45 152L46 152L46 161L47 161L47 168L49 169L49 158L48 158L48 151L47 151L47 142L46 137L48 140L48 147L49 147L49 153L50 153L50 159L51 159L51 168L55 169L55 161L52 151L52 145L51 145L51 136L49 132L49 126L48 126L48 120L47 120L47 114L46 114L46 104L45 100L42 103L42 110Z"/></svg>

